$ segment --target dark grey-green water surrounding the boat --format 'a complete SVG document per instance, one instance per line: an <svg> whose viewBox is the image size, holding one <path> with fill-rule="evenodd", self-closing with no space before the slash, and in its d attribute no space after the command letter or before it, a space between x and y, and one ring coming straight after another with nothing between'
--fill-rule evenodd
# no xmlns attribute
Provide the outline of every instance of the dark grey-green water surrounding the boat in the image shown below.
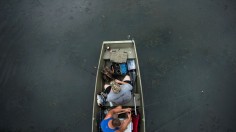
<svg viewBox="0 0 236 132"><path fill-rule="evenodd" d="M0 2L0 131L91 131L102 41L137 45L147 132L235 132L233 0Z"/></svg>

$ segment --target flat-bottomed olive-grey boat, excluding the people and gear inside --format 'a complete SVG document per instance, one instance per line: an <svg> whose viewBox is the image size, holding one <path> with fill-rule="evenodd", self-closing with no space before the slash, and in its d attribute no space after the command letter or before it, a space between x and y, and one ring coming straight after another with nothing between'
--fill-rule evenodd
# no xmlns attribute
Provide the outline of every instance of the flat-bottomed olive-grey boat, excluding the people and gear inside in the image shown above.
<svg viewBox="0 0 236 132"><path fill-rule="evenodd" d="M122 105L124 107L131 107L135 110L135 114L138 112L140 115L139 121L139 132L145 132L145 114L144 114L144 101L143 101L143 92L142 92L142 83L140 76L140 69L138 63L138 56L136 51L136 46L134 40L124 40L124 41L104 41L101 48L98 68L97 68L97 76L95 83L95 91L94 91L94 102L93 102L93 115L92 115L92 132L98 132L99 123L98 113L102 109L97 104L97 93L103 91L104 81L102 79L102 69L109 65L110 57L112 52L124 52L127 53L127 60L134 60L135 62L135 72L136 77L134 80L133 86L133 95L134 98L127 104ZM132 70L134 71L134 70ZM132 72L133 73L133 72ZM109 103L106 104L105 107L110 107Z"/></svg>

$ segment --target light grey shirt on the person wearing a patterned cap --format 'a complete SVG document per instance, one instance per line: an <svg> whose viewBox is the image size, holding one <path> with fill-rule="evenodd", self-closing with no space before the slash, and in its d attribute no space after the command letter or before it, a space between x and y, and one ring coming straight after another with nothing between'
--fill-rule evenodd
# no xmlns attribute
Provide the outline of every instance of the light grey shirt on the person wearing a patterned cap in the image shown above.
<svg viewBox="0 0 236 132"><path fill-rule="evenodd" d="M107 101L113 102L117 105L122 105L128 103L131 98L131 90L133 89L132 85L130 84L123 84L120 85L120 92L114 93L113 90L110 91L110 93L107 95Z"/></svg>

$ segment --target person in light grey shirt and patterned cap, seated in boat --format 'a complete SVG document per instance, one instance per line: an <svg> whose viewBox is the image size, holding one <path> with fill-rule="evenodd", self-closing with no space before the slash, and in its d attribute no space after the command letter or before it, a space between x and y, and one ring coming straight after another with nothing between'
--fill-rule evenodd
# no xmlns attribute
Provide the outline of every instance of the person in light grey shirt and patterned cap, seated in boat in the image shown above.
<svg viewBox="0 0 236 132"><path fill-rule="evenodd" d="M108 93L106 101L115 103L116 105L130 102L132 98L131 90L133 89L130 83L130 77L126 75L123 81L115 79L110 82L110 85L105 84L104 88Z"/></svg>

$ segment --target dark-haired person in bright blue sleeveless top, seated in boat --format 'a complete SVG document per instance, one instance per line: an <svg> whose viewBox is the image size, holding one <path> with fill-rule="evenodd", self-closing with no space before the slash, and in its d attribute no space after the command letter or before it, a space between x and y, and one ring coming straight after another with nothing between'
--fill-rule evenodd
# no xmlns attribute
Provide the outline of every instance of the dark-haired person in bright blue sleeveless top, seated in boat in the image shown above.
<svg viewBox="0 0 236 132"><path fill-rule="evenodd" d="M117 114L119 113L127 113L128 117L121 121L117 118ZM122 106L117 106L107 113L100 125L103 132L123 132L127 129L127 126L131 121L131 108L122 109Z"/></svg>

